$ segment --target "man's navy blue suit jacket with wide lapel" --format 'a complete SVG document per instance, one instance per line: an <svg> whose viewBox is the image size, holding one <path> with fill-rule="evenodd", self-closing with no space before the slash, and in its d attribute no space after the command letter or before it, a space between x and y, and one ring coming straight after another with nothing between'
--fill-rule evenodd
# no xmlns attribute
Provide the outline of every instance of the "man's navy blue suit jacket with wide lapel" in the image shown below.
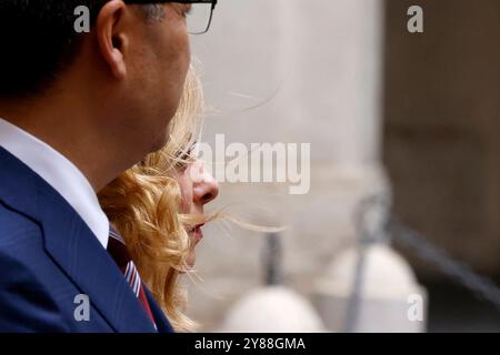
<svg viewBox="0 0 500 355"><path fill-rule="evenodd" d="M172 332L146 293L158 331ZM81 320L87 305L89 320ZM1 146L0 332L156 332L78 213Z"/></svg>

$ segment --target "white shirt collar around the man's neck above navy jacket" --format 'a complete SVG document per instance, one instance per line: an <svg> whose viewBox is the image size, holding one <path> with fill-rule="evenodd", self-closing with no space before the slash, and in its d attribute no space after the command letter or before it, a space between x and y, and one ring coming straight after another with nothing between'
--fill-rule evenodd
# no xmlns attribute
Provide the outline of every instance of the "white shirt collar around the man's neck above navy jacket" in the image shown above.
<svg viewBox="0 0 500 355"><path fill-rule="evenodd" d="M77 211L104 248L109 221L82 172L47 143L0 119L0 146L47 181Z"/></svg>

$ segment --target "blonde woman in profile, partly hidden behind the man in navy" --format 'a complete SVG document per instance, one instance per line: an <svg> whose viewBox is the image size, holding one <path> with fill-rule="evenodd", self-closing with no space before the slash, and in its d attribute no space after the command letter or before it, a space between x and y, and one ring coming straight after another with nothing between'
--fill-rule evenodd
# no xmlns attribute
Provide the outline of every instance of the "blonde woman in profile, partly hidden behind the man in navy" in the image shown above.
<svg viewBox="0 0 500 355"><path fill-rule="evenodd" d="M179 275L194 265L202 225L214 215L203 207L217 197L217 181L192 156L203 98L191 69L183 99L170 124L170 139L99 194L102 209L124 240L142 282L176 331L194 326L183 313ZM193 181L191 176L198 176Z"/></svg>

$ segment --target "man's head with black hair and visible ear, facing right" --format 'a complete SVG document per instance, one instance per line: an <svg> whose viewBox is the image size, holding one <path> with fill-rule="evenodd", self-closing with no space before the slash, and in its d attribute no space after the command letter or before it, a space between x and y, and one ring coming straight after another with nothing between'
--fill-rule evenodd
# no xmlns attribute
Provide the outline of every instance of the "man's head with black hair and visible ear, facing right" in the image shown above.
<svg viewBox="0 0 500 355"><path fill-rule="evenodd" d="M80 6L90 10L90 33L74 30ZM102 126L94 133L120 138L140 160L164 143L180 101L190 61L188 10L122 0L1 0L0 109L27 102L43 109L46 100L72 111L68 121L84 119Z"/></svg>

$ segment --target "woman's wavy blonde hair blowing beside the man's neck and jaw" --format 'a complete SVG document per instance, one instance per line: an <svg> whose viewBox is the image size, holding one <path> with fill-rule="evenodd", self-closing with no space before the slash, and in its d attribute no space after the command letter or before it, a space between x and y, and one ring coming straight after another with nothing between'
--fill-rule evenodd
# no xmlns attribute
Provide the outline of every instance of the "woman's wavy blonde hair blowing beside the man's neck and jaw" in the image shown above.
<svg viewBox="0 0 500 355"><path fill-rule="evenodd" d="M126 171L99 193L110 222L126 241L142 281L176 331L193 331L182 313L187 295L180 273L189 272L189 219L180 210L181 191L173 179L203 110L199 75L191 67L182 100L169 126L168 143Z"/></svg>

